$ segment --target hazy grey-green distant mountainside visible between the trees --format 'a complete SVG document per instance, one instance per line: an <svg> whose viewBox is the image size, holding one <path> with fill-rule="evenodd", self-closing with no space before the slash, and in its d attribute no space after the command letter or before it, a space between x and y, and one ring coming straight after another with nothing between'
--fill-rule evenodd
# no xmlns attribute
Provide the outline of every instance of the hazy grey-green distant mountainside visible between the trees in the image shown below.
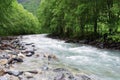
<svg viewBox="0 0 120 80"><path fill-rule="evenodd" d="M40 4L40 0L18 0L26 10L33 13L34 15L37 14L37 9Z"/></svg>

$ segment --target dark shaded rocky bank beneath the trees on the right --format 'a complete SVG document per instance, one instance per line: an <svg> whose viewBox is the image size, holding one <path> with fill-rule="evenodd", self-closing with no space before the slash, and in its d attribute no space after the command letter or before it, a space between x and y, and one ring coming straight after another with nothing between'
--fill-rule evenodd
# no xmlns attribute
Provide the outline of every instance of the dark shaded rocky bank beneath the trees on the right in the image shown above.
<svg viewBox="0 0 120 80"><path fill-rule="evenodd" d="M120 42L114 42L114 41L99 41L99 40L86 40L86 39L69 39L69 38L63 38L59 36L54 35L47 35L47 37L53 38L53 39L61 39L65 40L66 43L78 43L78 44L87 44L91 45L100 49L113 49L113 50L120 50Z"/></svg>

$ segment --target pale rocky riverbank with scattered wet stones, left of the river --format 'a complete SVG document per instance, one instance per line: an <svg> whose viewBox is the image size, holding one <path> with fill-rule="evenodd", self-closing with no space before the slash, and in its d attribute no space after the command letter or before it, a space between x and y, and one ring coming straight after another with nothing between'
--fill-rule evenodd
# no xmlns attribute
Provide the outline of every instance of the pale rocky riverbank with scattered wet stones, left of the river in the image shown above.
<svg viewBox="0 0 120 80"><path fill-rule="evenodd" d="M51 53L38 53L34 43L21 42L19 37L0 38L0 80L95 80L90 75L73 72L64 67L53 67L59 58ZM28 61L36 59L36 64ZM28 62L27 62L28 61ZM39 68L32 68L39 64ZM23 65L30 65L24 69ZM18 66L23 67L19 69Z"/></svg>

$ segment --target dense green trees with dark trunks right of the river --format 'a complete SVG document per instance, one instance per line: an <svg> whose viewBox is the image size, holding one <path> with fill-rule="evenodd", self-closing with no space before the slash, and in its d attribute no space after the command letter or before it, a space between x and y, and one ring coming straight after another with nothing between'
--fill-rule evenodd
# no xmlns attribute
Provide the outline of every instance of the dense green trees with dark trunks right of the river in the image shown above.
<svg viewBox="0 0 120 80"><path fill-rule="evenodd" d="M120 0L41 0L38 18L42 29L54 35L78 39L117 36L120 41Z"/></svg>

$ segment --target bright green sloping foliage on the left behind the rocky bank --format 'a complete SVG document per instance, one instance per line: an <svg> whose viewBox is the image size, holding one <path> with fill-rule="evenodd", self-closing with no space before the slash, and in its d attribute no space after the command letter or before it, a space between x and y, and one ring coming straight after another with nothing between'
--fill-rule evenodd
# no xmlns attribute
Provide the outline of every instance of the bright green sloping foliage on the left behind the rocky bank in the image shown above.
<svg viewBox="0 0 120 80"><path fill-rule="evenodd" d="M36 33L39 22L16 0L0 0L0 35Z"/></svg>

